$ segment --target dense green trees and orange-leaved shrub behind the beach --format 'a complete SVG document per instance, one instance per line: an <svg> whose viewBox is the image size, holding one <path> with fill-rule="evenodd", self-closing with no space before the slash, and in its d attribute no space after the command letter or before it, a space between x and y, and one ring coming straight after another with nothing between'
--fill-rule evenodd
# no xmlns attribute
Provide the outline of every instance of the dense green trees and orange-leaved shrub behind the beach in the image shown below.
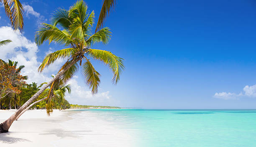
<svg viewBox="0 0 256 147"><path fill-rule="evenodd" d="M17 68L18 62L0 61L0 109L19 109L46 83L41 85L36 82L27 84L24 80L27 80L28 77L20 75L20 71L25 67L24 65ZM71 92L70 85L60 85L56 82L50 95L49 88L47 88L35 101L49 96L52 97L51 109L69 109L70 104L65 99L66 92ZM42 100L31 106L30 109L46 109L46 105L47 100Z"/></svg>

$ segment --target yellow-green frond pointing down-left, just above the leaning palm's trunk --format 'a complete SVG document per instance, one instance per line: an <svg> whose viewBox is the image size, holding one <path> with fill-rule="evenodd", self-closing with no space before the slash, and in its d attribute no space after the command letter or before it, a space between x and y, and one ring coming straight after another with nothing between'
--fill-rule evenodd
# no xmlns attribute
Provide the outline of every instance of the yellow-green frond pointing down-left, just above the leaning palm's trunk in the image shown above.
<svg viewBox="0 0 256 147"><path fill-rule="evenodd" d="M57 50L56 52L46 55L42 64L38 67L38 72L43 72L45 67L48 67L50 64L54 63L59 58L64 59L64 58L71 57L74 50L75 50L74 48L65 48L65 49Z"/></svg>

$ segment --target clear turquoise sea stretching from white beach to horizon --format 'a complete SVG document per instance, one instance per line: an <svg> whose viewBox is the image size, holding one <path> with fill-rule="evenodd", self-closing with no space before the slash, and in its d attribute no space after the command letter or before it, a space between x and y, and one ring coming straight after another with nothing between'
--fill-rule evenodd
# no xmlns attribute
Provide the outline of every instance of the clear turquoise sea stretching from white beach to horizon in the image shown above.
<svg viewBox="0 0 256 147"><path fill-rule="evenodd" d="M138 147L256 147L256 110L87 110Z"/></svg>

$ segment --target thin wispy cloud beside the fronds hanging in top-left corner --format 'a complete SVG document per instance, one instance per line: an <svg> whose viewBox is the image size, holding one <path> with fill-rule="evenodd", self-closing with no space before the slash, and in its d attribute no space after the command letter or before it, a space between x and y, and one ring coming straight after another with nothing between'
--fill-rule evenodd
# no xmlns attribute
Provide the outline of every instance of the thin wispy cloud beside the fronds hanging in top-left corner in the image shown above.
<svg viewBox="0 0 256 147"><path fill-rule="evenodd" d="M40 25L42 22L47 21L47 19L43 15L34 11L33 7L31 7L30 5L23 4L23 7L24 7L26 17L29 18L30 15L33 15L37 18L36 20L37 25Z"/></svg>

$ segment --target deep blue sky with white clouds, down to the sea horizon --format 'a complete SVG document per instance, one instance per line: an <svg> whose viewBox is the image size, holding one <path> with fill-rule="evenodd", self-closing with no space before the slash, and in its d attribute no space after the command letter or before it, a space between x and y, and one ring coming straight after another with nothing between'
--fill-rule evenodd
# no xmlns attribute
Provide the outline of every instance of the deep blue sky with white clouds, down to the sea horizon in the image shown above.
<svg viewBox="0 0 256 147"><path fill-rule="evenodd" d="M67 9L75 2L20 1L26 5L26 13L24 33L18 34L18 38L25 37L31 45L40 22L49 23L56 8ZM90 11L95 11L97 22L102 1L85 2ZM3 32L9 23L3 7L0 7L0 17ZM113 36L107 45L97 44L94 48L111 51L125 59L120 82L113 85L110 70L94 62L102 75L99 94L89 96L78 73L71 81L73 94L67 97L69 102L169 109L256 108L254 0L233 0L232 3L223 0L117 0L104 26L110 27ZM3 36L8 37L0 35L0 39L3 40ZM15 57L8 54L9 49L4 53L0 51L0 57L18 60L19 54L27 52L26 45L21 46L22 52ZM19 45L14 47L19 48ZM34 61L39 64L46 53L62 47L45 43L34 48ZM43 77L47 79L55 74L60 65L61 61L43 73ZM42 75L33 74L31 72L31 81L45 80ZM83 92L78 95L78 90Z"/></svg>

